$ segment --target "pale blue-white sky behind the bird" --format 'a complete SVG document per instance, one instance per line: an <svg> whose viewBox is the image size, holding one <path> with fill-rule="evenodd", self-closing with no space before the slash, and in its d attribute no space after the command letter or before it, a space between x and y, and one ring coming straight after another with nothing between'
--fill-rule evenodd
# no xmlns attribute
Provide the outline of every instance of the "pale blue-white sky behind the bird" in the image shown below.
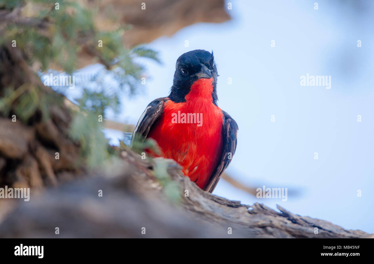
<svg viewBox="0 0 374 264"><path fill-rule="evenodd" d="M150 101L169 94L181 54L213 50L218 105L239 125L227 172L250 186L286 187L288 200L258 199L224 180L214 194L273 209L279 204L374 233L374 2L318 1L318 10L314 2L232 1L227 10L232 21L195 24L160 37L147 47L159 52L163 65L141 60L149 76L142 94L123 98L120 116L107 117L136 124ZM331 75L331 89L300 86L307 73ZM271 115L276 122L270 122ZM116 131L106 135L113 144L122 137Z"/></svg>

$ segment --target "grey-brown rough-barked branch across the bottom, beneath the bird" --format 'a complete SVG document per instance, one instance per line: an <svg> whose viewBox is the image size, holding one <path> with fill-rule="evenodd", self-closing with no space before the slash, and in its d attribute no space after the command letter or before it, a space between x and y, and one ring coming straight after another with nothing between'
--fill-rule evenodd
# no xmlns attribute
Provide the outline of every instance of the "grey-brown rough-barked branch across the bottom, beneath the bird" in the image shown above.
<svg viewBox="0 0 374 264"><path fill-rule="evenodd" d="M170 161L180 201L166 198L153 172L154 161L129 150L110 173L93 173L43 194L19 201L0 225L0 237L243 237L364 238L330 222L295 215L278 206L252 206L209 194ZM98 197L98 190L103 196ZM188 197L184 194L188 190ZM8 209L9 211L9 209ZM59 235L55 228L59 227ZM142 228L145 227L145 234ZM315 227L318 234L315 234ZM232 228L232 234L228 234Z"/></svg>

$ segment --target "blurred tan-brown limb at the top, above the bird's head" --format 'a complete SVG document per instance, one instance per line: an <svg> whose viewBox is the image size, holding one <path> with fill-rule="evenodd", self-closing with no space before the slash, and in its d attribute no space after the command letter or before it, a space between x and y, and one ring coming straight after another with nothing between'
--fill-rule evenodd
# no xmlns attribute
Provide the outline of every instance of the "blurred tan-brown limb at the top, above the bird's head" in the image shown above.
<svg viewBox="0 0 374 264"><path fill-rule="evenodd" d="M142 3L146 4L145 9ZM93 7L96 3L87 4ZM224 0L105 0L99 3L99 10L96 26L102 30L113 30L120 22L131 25L123 39L127 46L171 36L194 23L230 19Z"/></svg>

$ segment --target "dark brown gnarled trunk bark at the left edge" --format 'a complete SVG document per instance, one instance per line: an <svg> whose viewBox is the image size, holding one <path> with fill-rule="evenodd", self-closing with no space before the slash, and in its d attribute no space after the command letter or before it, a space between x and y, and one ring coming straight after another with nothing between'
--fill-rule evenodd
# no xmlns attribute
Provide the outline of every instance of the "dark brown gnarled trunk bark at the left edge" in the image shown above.
<svg viewBox="0 0 374 264"><path fill-rule="evenodd" d="M30 93L37 85L42 90L39 98L54 99L59 104L45 104L48 115L35 109L23 124L17 112L19 97ZM10 101L9 114L0 117L0 186L42 188L57 185L67 175L80 175L84 168L79 161L79 145L68 137L72 111L64 104L64 97L44 86L28 66L18 49L0 47L0 98L10 100L6 89L16 88ZM13 117L14 116L14 117ZM59 159L55 159L56 152ZM59 179L61 176L61 179Z"/></svg>

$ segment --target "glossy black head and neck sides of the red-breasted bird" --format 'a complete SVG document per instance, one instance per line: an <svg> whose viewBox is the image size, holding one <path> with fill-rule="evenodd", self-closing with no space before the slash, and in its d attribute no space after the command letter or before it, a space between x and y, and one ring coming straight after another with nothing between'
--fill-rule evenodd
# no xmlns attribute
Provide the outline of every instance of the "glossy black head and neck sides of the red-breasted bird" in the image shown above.
<svg viewBox="0 0 374 264"><path fill-rule="evenodd" d="M175 103L186 101L191 85L200 78L213 78L212 101L217 105L217 67L213 52L196 49L182 54L175 65L174 81L169 98Z"/></svg>

